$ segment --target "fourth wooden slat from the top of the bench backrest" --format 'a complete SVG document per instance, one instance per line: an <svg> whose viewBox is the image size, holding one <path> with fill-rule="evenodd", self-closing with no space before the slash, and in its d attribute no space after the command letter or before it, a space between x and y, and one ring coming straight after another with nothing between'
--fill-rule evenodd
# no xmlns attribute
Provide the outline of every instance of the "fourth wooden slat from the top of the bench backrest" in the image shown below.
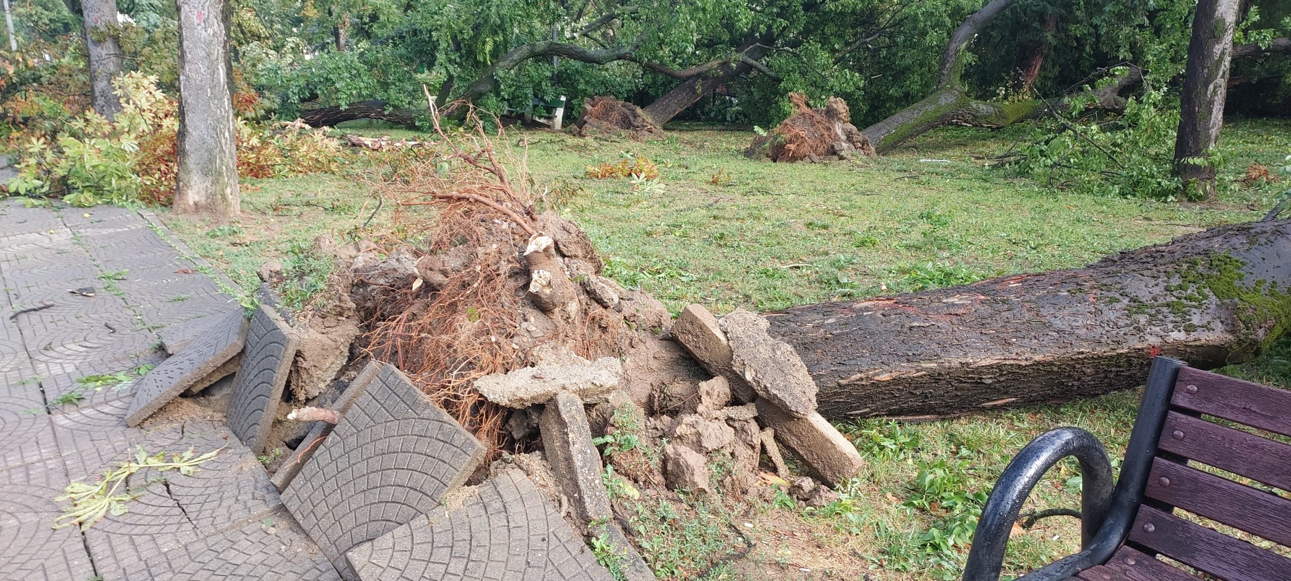
<svg viewBox="0 0 1291 581"><path fill-rule="evenodd" d="M1224 581L1291 580L1291 559L1146 505L1139 508L1130 541Z"/></svg>

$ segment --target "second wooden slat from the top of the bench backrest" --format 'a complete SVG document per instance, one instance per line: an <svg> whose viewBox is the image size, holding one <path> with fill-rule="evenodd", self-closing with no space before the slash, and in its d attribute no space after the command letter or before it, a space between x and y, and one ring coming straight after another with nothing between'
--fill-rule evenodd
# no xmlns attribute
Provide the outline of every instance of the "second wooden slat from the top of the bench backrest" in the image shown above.
<svg viewBox="0 0 1291 581"><path fill-rule="evenodd" d="M1291 491L1291 446L1179 412L1166 415L1161 450Z"/></svg>

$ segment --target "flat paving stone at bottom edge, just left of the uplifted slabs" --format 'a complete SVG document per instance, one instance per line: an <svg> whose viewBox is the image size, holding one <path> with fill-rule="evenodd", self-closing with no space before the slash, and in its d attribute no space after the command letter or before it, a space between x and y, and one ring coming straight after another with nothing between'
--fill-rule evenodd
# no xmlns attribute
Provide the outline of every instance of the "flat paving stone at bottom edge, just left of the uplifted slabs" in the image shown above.
<svg viewBox="0 0 1291 581"><path fill-rule="evenodd" d="M132 581L341 578L318 545L283 513L272 513L263 519L169 550L130 569L128 577Z"/></svg>

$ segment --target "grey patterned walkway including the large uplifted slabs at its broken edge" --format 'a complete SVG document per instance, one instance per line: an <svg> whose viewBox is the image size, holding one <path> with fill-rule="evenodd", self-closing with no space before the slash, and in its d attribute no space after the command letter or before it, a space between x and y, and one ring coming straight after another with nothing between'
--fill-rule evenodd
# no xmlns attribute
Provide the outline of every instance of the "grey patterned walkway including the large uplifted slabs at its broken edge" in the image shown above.
<svg viewBox="0 0 1291 581"><path fill-rule="evenodd" d="M130 383L77 380L136 374L165 359L159 332L243 308L148 213L0 200L0 580L338 581L337 568L358 581L611 578L523 474L444 511L483 447L391 366L376 381L385 392L358 397L285 504L219 414L174 402L188 411L142 411L128 426ZM262 349L257 336L247 353ZM68 482L94 482L138 450L218 455L192 474L139 471L125 513L53 528Z"/></svg>

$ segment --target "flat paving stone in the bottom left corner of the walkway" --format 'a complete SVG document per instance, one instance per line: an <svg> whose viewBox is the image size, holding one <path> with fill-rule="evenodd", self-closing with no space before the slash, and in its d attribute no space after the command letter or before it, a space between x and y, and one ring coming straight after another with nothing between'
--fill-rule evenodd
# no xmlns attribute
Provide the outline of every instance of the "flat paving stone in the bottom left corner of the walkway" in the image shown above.
<svg viewBox="0 0 1291 581"><path fill-rule="evenodd" d="M94 569L76 527L53 528L67 474L57 459L0 470L0 578L83 581Z"/></svg>

